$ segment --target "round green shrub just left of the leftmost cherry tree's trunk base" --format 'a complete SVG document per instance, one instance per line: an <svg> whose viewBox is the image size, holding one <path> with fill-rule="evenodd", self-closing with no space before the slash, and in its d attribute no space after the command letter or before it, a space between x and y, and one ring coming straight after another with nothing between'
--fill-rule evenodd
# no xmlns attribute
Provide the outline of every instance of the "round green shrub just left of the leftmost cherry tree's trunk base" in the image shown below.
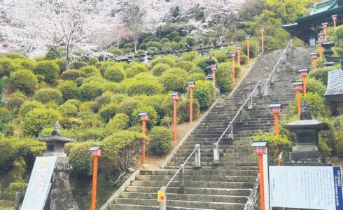
<svg viewBox="0 0 343 210"><path fill-rule="evenodd" d="M44 80L50 82L58 76L59 66L53 61L45 60L38 62L36 68L34 68L34 73L43 75Z"/></svg>

